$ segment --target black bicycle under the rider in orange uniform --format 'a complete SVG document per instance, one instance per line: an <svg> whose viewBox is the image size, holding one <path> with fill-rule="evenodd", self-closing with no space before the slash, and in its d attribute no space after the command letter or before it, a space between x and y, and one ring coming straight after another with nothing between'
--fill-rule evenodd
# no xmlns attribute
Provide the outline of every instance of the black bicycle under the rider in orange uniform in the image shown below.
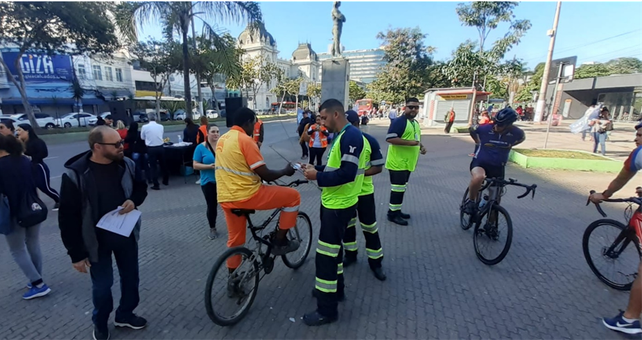
<svg viewBox="0 0 642 340"><path fill-rule="evenodd" d="M293 188L306 183L309 183L309 181L297 180L281 186ZM207 310L209 319L217 325L234 325L241 321L245 314L248 314L254 298L257 296L259 282L274 269L277 256L272 255L272 248L274 247L275 234L279 229L277 215L280 212L281 208L275 209L267 220L257 226L252 224L250 219L250 215L255 213L254 210L232 209L232 213L235 215L247 217L248 229L252 233L255 247L252 250L245 246L227 249L216 260L209 273L207 284L205 285L205 310ZM275 227L268 229L272 222L275 222ZM271 231L265 233L268 230ZM298 269L304 264L312 247L312 222L310 222L310 217L306 213L299 211L297 224L288 231L287 237L288 240L298 240L300 246L296 251L282 255L281 260L287 267ZM238 257L241 258L241 265L236 269L228 269L228 260L232 258L238 259ZM214 288L216 274L222 274L223 285L218 288ZM236 310L236 312L232 312L229 315L221 314L228 308L236 309L237 307L240 309Z"/></svg>

